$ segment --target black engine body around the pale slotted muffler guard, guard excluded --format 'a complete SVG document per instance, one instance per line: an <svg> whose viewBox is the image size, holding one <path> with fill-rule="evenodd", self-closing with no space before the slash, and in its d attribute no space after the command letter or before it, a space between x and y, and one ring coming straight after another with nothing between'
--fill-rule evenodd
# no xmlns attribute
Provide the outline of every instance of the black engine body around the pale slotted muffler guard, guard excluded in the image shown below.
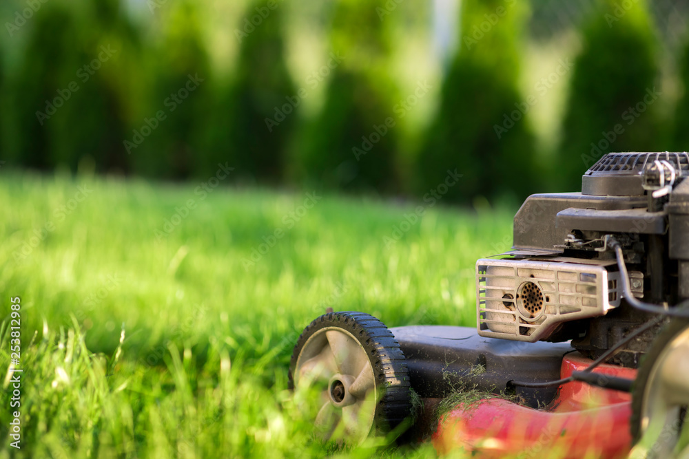
<svg viewBox="0 0 689 459"><path fill-rule="evenodd" d="M513 250L504 259L610 260L615 254L605 250L604 239L612 235L624 247L630 273L638 275L635 297L668 305L688 299L688 175L688 153L609 153L586 171L581 193L531 195L522 204L514 219ZM595 359L649 319L621 299L601 317L566 321L542 339L572 340ZM480 325L480 330L487 329ZM656 334L653 329L638 337L615 361L636 367Z"/></svg>

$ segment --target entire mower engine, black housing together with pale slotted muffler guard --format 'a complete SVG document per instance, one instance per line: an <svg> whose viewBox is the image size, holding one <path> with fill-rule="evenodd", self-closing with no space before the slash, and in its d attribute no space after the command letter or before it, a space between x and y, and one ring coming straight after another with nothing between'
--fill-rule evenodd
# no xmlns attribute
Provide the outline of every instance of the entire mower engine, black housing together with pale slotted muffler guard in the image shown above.
<svg viewBox="0 0 689 459"><path fill-rule="evenodd" d="M622 294L621 245L630 292L675 304L689 297L688 153L610 153L582 180L582 193L532 195L514 220L513 250L476 264L483 337L572 341L597 358L648 321ZM617 363L636 367L655 334Z"/></svg>

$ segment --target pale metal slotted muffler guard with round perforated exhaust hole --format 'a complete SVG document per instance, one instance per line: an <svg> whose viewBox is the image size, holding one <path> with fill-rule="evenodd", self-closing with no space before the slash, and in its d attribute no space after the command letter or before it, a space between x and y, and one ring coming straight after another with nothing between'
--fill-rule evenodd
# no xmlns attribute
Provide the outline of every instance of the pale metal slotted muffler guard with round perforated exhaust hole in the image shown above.
<svg viewBox="0 0 689 459"><path fill-rule="evenodd" d="M621 299L619 273L576 259L480 259L477 327L482 337L535 342L567 321L605 315Z"/></svg>

